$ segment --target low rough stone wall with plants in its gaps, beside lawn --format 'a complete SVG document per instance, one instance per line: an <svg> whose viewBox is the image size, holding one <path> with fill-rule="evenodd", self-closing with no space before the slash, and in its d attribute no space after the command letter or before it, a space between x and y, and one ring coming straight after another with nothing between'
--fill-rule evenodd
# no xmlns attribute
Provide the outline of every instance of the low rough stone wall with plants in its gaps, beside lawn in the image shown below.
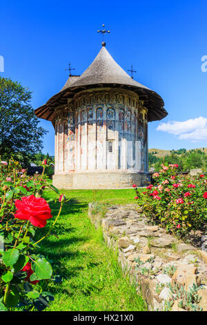
<svg viewBox="0 0 207 325"><path fill-rule="evenodd" d="M206 251L150 225L136 205L108 207L103 216L104 210L90 203L90 220L102 227L107 245L118 249L122 269L137 283L149 310L207 311Z"/></svg>

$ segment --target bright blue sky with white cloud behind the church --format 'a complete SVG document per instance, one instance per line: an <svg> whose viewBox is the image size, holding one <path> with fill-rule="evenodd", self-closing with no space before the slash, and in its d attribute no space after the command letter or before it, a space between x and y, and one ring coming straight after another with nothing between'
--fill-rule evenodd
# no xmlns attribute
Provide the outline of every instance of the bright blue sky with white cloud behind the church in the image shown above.
<svg viewBox="0 0 207 325"><path fill-rule="evenodd" d="M36 109L65 84L68 62L77 74L88 68L101 24L115 61L133 64L135 80L164 98L168 116L149 123L149 147L207 147L206 1L3 1L1 76L28 86ZM43 152L54 154L52 124L40 124L49 131Z"/></svg>

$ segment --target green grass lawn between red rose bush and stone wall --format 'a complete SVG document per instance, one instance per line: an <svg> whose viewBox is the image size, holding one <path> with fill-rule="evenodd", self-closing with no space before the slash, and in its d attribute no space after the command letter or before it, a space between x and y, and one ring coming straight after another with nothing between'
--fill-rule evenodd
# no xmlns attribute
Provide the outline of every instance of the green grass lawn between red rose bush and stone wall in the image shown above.
<svg viewBox="0 0 207 325"><path fill-rule="evenodd" d="M135 286L122 275L116 254L103 242L101 229L96 230L88 219L89 202L135 203L133 189L61 192L71 201L63 205L52 236L42 241L40 250L52 263L54 275L63 277L61 284L49 284L55 301L47 310L146 310ZM55 196L46 192L46 198ZM56 216L59 204L50 206ZM47 229L39 230L37 238Z"/></svg>

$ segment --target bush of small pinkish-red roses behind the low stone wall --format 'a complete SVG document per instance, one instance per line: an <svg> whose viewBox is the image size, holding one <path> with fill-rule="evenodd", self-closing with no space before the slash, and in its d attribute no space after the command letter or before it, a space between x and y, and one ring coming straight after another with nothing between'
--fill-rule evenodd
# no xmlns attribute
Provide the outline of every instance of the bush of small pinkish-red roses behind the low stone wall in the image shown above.
<svg viewBox="0 0 207 325"><path fill-rule="evenodd" d="M161 223L168 232L184 236L191 230L204 230L207 222L207 178L179 176L178 165L162 165L152 175L154 185L144 192L135 188L135 199L144 213L155 223Z"/></svg>

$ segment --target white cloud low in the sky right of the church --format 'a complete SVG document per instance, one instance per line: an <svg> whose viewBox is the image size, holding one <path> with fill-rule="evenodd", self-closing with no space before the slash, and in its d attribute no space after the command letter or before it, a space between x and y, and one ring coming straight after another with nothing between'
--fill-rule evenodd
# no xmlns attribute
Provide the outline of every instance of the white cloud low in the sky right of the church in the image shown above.
<svg viewBox="0 0 207 325"><path fill-rule="evenodd" d="M184 122L170 121L160 123L157 130L174 134L181 140L190 140L192 142L204 141L207 140L207 118L200 116L199 118L192 118Z"/></svg>

